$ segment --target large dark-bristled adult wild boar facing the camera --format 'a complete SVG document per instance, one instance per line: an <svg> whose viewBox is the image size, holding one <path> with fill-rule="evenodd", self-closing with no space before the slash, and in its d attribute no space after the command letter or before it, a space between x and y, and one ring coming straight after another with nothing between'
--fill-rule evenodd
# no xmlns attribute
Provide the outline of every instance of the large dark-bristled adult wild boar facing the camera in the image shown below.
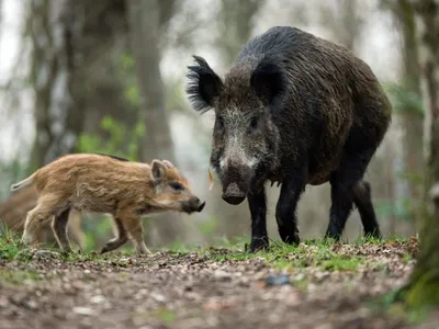
<svg viewBox="0 0 439 329"><path fill-rule="evenodd" d="M250 250L269 246L267 181L282 184L275 208L284 242L300 241L297 201L306 184L331 185L325 237L339 239L353 204L367 235L381 236L367 167L391 123L371 68L347 48L275 26L250 39L224 81L194 56L187 88L195 111L215 111L211 166L233 205L246 196Z"/></svg>

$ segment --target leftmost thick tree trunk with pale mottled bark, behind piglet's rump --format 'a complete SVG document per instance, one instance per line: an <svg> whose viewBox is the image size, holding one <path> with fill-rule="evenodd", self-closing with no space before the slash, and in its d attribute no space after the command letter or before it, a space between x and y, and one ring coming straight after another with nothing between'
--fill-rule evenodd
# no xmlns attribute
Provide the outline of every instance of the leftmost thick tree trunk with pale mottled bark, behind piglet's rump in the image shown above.
<svg viewBox="0 0 439 329"><path fill-rule="evenodd" d="M74 2L30 2L36 134L30 171L70 152L81 132L83 112L75 104L72 77L78 65L74 43L82 31Z"/></svg>

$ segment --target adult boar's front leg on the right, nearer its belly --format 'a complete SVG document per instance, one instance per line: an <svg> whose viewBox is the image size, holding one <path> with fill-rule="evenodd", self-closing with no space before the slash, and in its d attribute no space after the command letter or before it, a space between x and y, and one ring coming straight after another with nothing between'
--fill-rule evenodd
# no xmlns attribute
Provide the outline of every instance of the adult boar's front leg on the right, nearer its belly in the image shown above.
<svg viewBox="0 0 439 329"><path fill-rule="evenodd" d="M288 175L282 181L281 193L275 206L275 220L281 239L285 243L299 243L299 229L296 218L297 202L305 190L307 169Z"/></svg>

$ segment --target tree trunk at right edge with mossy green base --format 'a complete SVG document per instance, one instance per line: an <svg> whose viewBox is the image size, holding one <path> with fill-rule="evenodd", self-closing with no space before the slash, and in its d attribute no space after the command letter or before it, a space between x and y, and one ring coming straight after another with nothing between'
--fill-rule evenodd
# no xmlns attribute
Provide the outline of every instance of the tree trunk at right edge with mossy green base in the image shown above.
<svg viewBox="0 0 439 329"><path fill-rule="evenodd" d="M417 264L404 292L406 302L419 307L439 304L439 3L417 0L413 5L425 104L425 188L430 212L424 216Z"/></svg>

